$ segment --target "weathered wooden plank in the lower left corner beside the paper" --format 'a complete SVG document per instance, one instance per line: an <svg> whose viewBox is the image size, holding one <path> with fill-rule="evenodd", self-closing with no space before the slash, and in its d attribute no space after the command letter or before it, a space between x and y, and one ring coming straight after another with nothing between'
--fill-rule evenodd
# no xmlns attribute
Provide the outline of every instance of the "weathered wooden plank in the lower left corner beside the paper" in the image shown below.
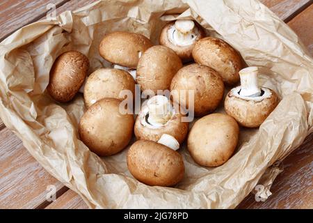
<svg viewBox="0 0 313 223"><path fill-rule="evenodd" d="M8 128L0 132L0 163L0 209L36 208L46 201L48 185L63 188Z"/></svg>

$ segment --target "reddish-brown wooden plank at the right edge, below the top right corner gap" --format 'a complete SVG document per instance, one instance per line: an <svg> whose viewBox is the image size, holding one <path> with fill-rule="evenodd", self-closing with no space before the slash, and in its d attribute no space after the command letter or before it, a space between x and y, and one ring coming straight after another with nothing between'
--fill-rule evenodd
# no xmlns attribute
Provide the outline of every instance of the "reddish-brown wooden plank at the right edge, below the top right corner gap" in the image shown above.
<svg viewBox="0 0 313 223"><path fill-rule="evenodd" d="M303 10L288 24L313 56L313 5Z"/></svg>

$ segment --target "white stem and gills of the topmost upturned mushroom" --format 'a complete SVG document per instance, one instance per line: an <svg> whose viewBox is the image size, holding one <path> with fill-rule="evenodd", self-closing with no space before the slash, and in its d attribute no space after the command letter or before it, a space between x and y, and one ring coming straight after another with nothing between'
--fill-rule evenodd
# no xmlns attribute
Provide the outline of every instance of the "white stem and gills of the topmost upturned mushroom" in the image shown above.
<svg viewBox="0 0 313 223"><path fill-rule="evenodd" d="M198 32L192 20L177 20L168 29L168 39L172 44L184 47L195 43Z"/></svg>

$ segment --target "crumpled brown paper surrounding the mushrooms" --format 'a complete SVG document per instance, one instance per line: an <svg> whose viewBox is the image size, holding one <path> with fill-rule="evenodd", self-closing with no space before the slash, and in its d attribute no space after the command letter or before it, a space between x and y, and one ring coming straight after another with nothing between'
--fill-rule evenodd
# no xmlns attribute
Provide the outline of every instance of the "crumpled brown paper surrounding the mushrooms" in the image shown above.
<svg viewBox="0 0 313 223"><path fill-rule="evenodd" d="M75 49L86 54L93 72L109 66L97 51L105 33L142 33L157 44L163 24L177 17L194 18L209 35L235 47L248 66L264 68L262 84L281 101L258 130L241 129L238 151L223 166L198 166L184 145L179 150L184 180L175 188L150 187L129 174L127 149L100 159L78 139L82 95L58 104L45 89L61 53ZM268 197L280 173L271 165L313 130L312 58L289 26L255 0L99 1L25 26L1 43L0 54L1 119L90 208L234 208L258 182Z"/></svg>

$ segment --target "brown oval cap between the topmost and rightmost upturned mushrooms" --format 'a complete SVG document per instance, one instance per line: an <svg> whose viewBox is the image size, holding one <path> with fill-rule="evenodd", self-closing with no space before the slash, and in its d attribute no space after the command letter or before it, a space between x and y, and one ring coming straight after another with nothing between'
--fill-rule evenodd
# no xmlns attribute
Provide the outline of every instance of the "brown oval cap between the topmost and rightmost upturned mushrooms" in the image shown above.
<svg viewBox="0 0 313 223"><path fill-rule="evenodd" d="M239 82L239 70L243 68L241 56L219 38L202 38L193 47L195 62L216 70L228 86Z"/></svg>

